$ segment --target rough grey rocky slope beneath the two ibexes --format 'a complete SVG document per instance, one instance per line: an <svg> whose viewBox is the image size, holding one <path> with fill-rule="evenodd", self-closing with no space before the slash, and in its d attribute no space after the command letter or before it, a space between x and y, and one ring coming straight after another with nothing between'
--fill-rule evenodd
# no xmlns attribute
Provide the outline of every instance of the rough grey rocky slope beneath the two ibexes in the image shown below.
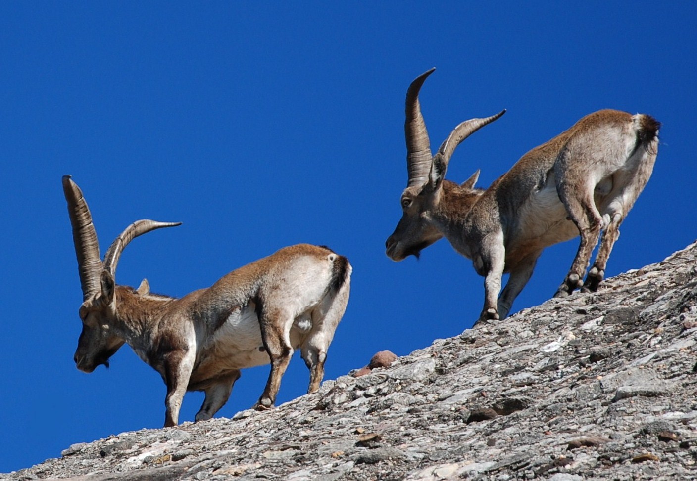
<svg viewBox="0 0 697 481"><path fill-rule="evenodd" d="M697 479L697 244L274 411L72 445L0 480Z"/></svg>

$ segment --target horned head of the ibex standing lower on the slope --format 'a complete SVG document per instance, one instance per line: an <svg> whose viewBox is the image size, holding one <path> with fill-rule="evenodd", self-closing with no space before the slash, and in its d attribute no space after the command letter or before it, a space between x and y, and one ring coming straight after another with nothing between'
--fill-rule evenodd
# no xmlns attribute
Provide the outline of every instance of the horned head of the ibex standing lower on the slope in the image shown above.
<svg viewBox="0 0 697 481"><path fill-rule="evenodd" d="M132 223L116 237L102 262L92 215L82 191L72 182L70 175L63 175L63 192L68 201L72 239L75 242L83 294L83 303L79 310L82 333L77 342L75 364L81 371L92 372L100 364L108 367L109 358L125 342L114 333L114 324L118 319L114 275L123 249L139 235L162 227L178 226L181 222L141 220Z"/></svg>

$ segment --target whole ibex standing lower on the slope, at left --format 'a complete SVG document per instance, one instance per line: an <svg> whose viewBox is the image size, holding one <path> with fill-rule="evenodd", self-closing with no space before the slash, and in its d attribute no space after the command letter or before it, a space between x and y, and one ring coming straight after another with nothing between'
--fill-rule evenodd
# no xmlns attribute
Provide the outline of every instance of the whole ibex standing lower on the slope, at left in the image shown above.
<svg viewBox="0 0 697 481"><path fill-rule="evenodd" d="M207 289L174 299L151 294L147 281L116 285L125 246L151 230L180 223L132 223L100 260L97 234L82 191L63 177L84 302L75 352L79 370L92 372L128 343L167 385L164 426L178 423L186 391L204 391L195 420L215 414L230 396L240 369L271 364L256 409L273 407L293 350L310 371L308 392L319 389L327 349L344 315L351 265L324 246L298 244L240 267Z"/></svg>

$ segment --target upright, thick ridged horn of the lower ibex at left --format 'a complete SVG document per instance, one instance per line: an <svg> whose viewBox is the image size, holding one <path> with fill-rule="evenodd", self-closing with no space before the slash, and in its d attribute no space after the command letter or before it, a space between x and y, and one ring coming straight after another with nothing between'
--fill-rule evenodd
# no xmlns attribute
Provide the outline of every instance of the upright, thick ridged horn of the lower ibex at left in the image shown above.
<svg viewBox="0 0 697 481"><path fill-rule="evenodd" d="M99 258L97 232L82 191L75 182L72 182L70 175L63 175L63 194L68 201L68 214L70 214L72 225L72 241L75 244L82 296L84 300L87 300L101 289L100 275L104 269Z"/></svg>

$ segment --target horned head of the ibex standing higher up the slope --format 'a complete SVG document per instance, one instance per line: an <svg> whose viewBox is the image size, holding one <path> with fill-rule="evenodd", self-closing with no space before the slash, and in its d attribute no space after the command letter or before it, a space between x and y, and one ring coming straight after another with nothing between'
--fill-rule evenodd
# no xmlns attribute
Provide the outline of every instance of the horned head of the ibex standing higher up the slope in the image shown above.
<svg viewBox="0 0 697 481"><path fill-rule="evenodd" d="M422 249L430 246L443 234L429 221L429 213L441 200L443 178L447 164L457 145L484 125L493 122L506 112L500 111L487 118L473 118L461 123L450 133L438 149L431 154L431 144L426 124L421 114L419 90L426 77L436 70L431 68L411 82L406 93L406 167L408 184L401 194L402 216L395 232L385 242L386 253L399 262L409 255L419 256ZM473 188L479 176L477 171L461 187Z"/></svg>

